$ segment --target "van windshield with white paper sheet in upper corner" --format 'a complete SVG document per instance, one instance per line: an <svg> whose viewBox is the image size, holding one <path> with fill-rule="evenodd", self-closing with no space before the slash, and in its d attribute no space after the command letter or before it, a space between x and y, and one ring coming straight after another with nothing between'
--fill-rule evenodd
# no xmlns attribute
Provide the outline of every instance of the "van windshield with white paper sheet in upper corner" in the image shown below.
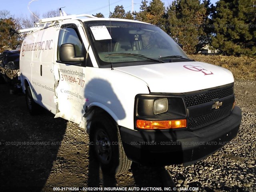
<svg viewBox="0 0 256 192"><path fill-rule="evenodd" d="M84 22L99 67L190 61L159 27L126 21ZM177 60L175 60L177 59Z"/></svg>

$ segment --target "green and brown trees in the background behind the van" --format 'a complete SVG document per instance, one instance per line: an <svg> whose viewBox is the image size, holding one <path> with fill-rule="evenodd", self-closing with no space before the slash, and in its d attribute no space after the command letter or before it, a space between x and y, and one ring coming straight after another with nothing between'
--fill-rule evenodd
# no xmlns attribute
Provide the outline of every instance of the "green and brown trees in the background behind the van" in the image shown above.
<svg viewBox="0 0 256 192"><path fill-rule="evenodd" d="M57 12L47 14L55 16ZM95 16L104 17L102 13ZM34 25L34 16L16 20L9 17L9 11L0 11L0 52L14 49L20 43L17 26ZM182 44L188 54L210 45L224 54L256 56L256 0L219 0L216 6L210 0L175 0L167 9L161 0L142 0L139 12L126 12L122 5L117 5L110 18L159 26Z"/></svg>

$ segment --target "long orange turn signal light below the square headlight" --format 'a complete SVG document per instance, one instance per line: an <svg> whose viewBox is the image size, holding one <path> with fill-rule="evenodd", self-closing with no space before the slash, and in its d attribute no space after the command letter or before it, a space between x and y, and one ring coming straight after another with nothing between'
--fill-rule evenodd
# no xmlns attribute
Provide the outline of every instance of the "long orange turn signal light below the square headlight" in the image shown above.
<svg viewBox="0 0 256 192"><path fill-rule="evenodd" d="M184 128L187 126L186 119L179 120L166 120L166 121L146 121L146 120L137 120L136 126L140 129L176 129Z"/></svg>

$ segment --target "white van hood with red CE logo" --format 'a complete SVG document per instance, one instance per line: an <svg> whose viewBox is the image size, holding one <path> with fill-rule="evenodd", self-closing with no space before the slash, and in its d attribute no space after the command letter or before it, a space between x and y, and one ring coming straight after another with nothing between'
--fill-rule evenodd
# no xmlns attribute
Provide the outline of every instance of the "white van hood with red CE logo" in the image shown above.
<svg viewBox="0 0 256 192"><path fill-rule="evenodd" d="M140 78L148 84L151 92L183 93L234 82L229 70L204 62L172 62L114 69Z"/></svg>

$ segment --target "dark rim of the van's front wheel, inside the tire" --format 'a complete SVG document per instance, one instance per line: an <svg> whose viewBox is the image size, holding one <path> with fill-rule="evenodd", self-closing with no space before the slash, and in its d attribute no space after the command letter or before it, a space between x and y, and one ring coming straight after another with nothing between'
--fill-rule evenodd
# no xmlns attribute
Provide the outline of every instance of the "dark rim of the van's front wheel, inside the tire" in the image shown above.
<svg viewBox="0 0 256 192"><path fill-rule="evenodd" d="M95 134L95 149L100 161L103 164L108 164L111 160L112 150L110 146L110 139L106 132L102 129Z"/></svg>

